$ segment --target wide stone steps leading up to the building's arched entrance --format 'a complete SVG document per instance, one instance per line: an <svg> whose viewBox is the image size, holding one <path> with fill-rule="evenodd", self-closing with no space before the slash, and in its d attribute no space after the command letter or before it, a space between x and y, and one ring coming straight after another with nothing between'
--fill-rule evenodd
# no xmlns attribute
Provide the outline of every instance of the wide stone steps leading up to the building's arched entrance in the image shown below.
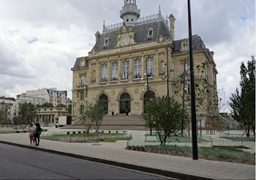
<svg viewBox="0 0 256 180"><path fill-rule="evenodd" d="M83 115L80 115L82 117ZM83 120L76 117L72 125L66 125L64 129L83 129ZM115 116L105 116L100 129L105 130L146 130L145 123L140 116L127 116L126 114L117 114Z"/></svg>

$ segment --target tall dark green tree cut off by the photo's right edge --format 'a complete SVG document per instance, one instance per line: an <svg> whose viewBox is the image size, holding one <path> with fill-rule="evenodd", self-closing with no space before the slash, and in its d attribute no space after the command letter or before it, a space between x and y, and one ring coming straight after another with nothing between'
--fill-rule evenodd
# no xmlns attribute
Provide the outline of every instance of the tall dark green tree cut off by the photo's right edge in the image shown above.
<svg viewBox="0 0 256 180"><path fill-rule="evenodd" d="M241 92L236 89L236 93L231 95L230 107L234 120L244 128L246 136L250 136L250 131L255 136L255 58L241 63Z"/></svg>

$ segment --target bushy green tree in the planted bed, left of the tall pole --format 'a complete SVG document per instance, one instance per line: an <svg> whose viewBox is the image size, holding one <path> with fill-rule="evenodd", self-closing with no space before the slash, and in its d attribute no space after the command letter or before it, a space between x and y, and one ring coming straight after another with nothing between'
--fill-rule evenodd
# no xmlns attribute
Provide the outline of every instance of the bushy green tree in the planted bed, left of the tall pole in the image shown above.
<svg viewBox="0 0 256 180"><path fill-rule="evenodd" d="M183 114L181 104L173 98L165 97L156 98L154 101L146 104L146 111L151 112L152 128L157 130L162 146L165 146L167 138L175 136L181 130ZM146 124L148 119L144 119Z"/></svg>

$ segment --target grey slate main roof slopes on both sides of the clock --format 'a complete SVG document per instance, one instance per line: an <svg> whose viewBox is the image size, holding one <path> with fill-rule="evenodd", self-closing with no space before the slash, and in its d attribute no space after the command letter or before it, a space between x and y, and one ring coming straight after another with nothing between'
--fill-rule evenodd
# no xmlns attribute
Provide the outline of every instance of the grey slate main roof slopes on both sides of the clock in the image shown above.
<svg viewBox="0 0 256 180"><path fill-rule="evenodd" d="M151 40L148 40L148 29L153 28L154 34ZM160 34L162 36L170 38L170 30L165 26L165 23L161 19L153 20L146 23L138 23L132 29L135 31L135 43L149 42L159 39ZM99 37L99 40L94 46L95 51L100 50L110 50L116 47L117 44L117 31L118 29L112 31L105 31ZM109 38L108 46L104 46L105 38Z"/></svg>

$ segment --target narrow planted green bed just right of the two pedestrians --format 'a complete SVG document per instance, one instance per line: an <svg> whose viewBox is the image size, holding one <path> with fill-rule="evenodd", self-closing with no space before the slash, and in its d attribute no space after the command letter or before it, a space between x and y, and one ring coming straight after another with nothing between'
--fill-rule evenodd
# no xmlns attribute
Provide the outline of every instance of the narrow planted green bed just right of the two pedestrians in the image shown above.
<svg viewBox="0 0 256 180"><path fill-rule="evenodd" d="M94 143L99 141L104 142L116 142L118 140L132 139L130 136L122 135L118 133L82 133L82 134L56 134L52 136L42 136L43 139L52 141L64 141L72 143Z"/></svg>

